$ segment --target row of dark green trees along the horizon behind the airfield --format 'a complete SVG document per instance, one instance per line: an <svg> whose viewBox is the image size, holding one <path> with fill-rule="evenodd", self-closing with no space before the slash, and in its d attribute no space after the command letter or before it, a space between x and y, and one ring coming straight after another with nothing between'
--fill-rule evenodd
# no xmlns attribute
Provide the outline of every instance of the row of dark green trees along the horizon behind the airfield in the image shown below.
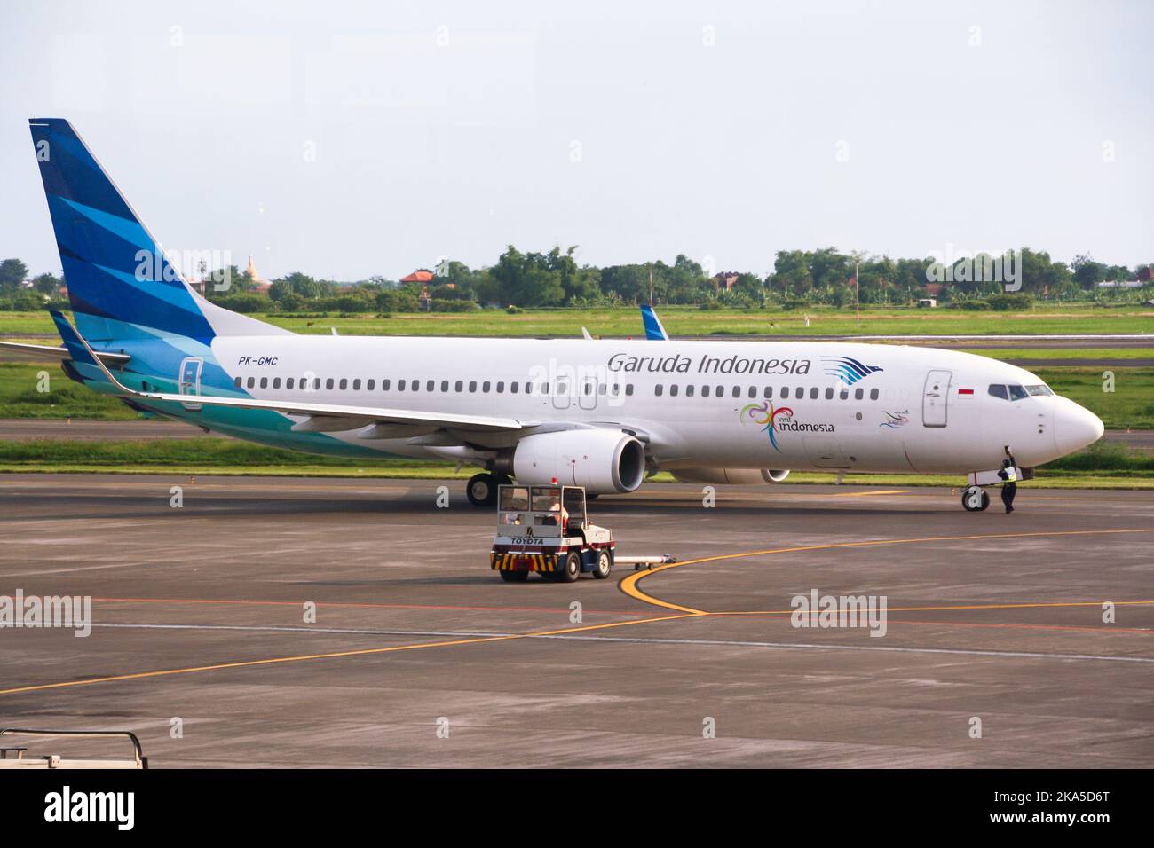
<svg viewBox="0 0 1154 848"><path fill-rule="evenodd" d="M1088 255L1071 263L1046 252L1022 248L1006 257L959 258L949 263L927 258L891 258L841 253L837 248L779 250L773 271L762 277L749 271L714 273L679 254L672 264L654 262L597 267L579 264L576 246L547 253L523 253L510 245L487 268L471 269L445 261L428 283L398 283L372 277L352 284L320 279L301 271L262 286L235 265L205 276L204 294L239 312L280 313L394 313L465 312L482 306L503 308L612 307L652 302L697 305L699 308L757 308L805 305L848 307L900 306L932 294L957 306L981 307L1002 298L1002 280L988 273L991 260L1005 258L1031 298L1056 300L1145 298L1151 292L1151 267L1108 265ZM981 265L987 273L964 267ZM855 275L856 269L856 277ZM36 309L59 301L59 277L42 273L23 287L28 268L15 258L0 262L0 308ZM1141 282L1140 290L1103 292L1102 282Z"/></svg>

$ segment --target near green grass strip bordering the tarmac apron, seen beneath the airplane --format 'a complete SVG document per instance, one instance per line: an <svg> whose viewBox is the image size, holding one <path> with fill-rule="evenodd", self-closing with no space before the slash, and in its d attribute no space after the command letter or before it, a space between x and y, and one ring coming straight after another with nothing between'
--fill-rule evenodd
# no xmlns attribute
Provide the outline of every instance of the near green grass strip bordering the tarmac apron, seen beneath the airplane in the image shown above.
<svg viewBox="0 0 1154 848"><path fill-rule="evenodd" d="M350 476L394 479L467 479L475 468L459 472L441 461L320 458L205 436L188 440L137 442L0 442L0 472L222 474L263 476ZM658 474L655 481L672 481ZM787 483L827 483L834 474L795 473ZM867 486L958 486L958 476L914 474L847 474L847 483ZM1028 485L1043 488L1154 489L1154 456L1124 445L1101 444L1037 470Z"/></svg>

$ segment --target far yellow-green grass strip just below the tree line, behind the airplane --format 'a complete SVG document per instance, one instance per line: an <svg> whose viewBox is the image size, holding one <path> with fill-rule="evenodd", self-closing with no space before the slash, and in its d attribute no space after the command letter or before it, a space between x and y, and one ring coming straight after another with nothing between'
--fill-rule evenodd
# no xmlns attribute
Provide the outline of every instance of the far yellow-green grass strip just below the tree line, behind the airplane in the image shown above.
<svg viewBox="0 0 1154 848"><path fill-rule="evenodd" d="M1089 307L1041 303L1020 313L980 313L962 309L864 307L861 323L854 310L831 307L807 309L719 309L659 307L673 336L709 335L1044 335L1154 332L1154 308L1141 306ZM809 315L810 325L805 327ZM293 317L254 315L294 332L373 336L571 336L586 327L594 336L644 336L635 307L614 309L526 309L509 315L500 309L474 313L395 314L390 317L349 315ZM0 335L55 335L47 313L0 313Z"/></svg>

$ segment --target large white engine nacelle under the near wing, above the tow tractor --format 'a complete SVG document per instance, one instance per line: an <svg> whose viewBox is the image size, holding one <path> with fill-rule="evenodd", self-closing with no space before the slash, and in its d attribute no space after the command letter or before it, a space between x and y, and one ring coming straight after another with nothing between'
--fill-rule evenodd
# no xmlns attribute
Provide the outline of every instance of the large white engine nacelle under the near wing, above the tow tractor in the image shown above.
<svg viewBox="0 0 1154 848"><path fill-rule="evenodd" d="M592 495L632 491L645 476L645 448L628 433L590 428L525 436L512 455L525 486L584 486Z"/></svg>

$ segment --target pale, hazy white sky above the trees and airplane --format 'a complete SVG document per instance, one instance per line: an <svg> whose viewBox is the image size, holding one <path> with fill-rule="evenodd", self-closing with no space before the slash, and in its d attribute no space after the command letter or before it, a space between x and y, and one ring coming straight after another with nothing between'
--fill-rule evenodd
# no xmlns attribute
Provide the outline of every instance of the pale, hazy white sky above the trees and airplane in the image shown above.
<svg viewBox="0 0 1154 848"><path fill-rule="evenodd" d="M1154 260L1154 3L0 2L0 257L73 122L168 250L403 276L1022 245Z"/></svg>

